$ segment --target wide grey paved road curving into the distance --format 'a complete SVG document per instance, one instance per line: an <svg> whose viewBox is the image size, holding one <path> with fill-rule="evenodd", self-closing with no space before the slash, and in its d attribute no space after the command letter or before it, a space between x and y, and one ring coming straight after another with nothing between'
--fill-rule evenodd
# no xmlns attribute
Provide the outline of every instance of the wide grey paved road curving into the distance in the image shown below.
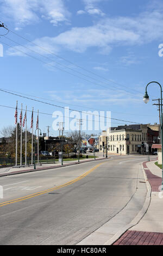
<svg viewBox="0 0 163 256"><path fill-rule="evenodd" d="M77 244L128 204L138 167L146 160L112 157L0 178L0 245ZM129 221L142 208L146 192Z"/></svg>

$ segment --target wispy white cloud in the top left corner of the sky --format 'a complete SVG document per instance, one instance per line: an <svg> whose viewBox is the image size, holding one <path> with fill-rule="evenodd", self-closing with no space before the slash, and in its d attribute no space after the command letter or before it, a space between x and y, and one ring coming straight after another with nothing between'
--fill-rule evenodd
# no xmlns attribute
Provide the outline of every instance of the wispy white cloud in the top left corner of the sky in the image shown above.
<svg viewBox="0 0 163 256"><path fill-rule="evenodd" d="M38 22L40 16L55 26L70 18L63 0L0 0L0 3L2 13L14 20L17 29Z"/></svg>

